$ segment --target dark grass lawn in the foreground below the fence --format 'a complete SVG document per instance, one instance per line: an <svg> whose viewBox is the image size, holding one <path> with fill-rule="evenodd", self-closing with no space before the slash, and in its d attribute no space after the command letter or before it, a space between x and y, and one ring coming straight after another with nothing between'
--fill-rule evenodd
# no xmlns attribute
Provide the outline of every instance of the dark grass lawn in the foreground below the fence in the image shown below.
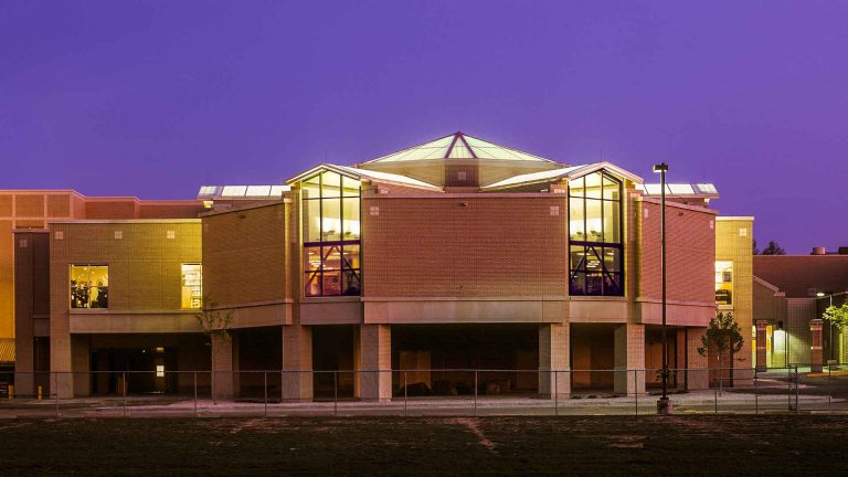
<svg viewBox="0 0 848 477"><path fill-rule="evenodd" d="M841 416L0 422L0 475L846 475Z"/></svg>

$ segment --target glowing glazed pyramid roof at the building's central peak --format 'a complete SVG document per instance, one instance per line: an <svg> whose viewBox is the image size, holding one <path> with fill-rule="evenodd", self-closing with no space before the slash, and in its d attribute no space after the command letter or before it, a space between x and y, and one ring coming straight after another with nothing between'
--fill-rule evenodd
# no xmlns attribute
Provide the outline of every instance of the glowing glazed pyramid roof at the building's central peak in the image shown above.
<svg viewBox="0 0 848 477"><path fill-rule="evenodd" d="M489 142L462 131L392 152L364 163L407 162L430 159L481 159L555 163L555 161L550 159Z"/></svg>

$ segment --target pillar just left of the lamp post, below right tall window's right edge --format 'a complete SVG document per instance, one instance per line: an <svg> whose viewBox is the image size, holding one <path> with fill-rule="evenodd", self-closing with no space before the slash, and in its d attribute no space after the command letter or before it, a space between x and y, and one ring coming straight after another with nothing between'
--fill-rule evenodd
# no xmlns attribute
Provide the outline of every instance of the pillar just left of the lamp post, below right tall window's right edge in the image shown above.
<svg viewBox="0 0 848 477"><path fill-rule="evenodd" d="M614 338L615 393L645 393L645 325L621 325Z"/></svg>

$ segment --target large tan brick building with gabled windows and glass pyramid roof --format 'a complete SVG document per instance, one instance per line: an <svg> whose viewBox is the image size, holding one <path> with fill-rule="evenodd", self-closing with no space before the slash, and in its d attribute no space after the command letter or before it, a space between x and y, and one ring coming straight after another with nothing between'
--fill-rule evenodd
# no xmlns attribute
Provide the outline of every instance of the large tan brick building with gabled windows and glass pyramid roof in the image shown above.
<svg viewBox="0 0 848 477"><path fill-rule="evenodd" d="M719 218L712 184L667 192L669 365L702 370L717 297L752 326L753 224ZM285 184L203 187L170 208L12 226L19 392L176 393L194 379L179 371L209 369L219 378L201 385L223 398L263 386L250 371L282 371L271 385L287 400L389 400L412 383L462 393L469 369L499 370L477 385L504 393L658 383L659 186L613 163L456 132ZM229 338L197 319L204 300L232 317ZM728 365L750 370L749 357ZM30 373L47 370L61 374Z"/></svg>

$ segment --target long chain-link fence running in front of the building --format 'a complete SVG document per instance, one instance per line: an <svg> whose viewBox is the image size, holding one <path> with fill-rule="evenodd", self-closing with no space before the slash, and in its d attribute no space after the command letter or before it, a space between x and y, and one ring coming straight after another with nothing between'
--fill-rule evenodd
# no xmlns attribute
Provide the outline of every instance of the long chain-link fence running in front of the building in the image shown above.
<svg viewBox="0 0 848 477"><path fill-rule="evenodd" d="M676 414L848 411L846 365L667 378ZM660 369L6 372L0 416L650 415L661 384Z"/></svg>

